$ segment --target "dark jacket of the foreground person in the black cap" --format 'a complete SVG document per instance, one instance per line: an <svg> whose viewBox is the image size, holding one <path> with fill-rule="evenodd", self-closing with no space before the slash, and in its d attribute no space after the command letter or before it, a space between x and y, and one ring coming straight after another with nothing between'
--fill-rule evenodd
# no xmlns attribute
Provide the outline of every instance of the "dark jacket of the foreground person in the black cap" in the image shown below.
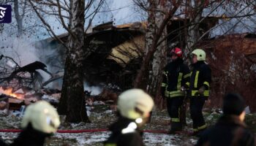
<svg viewBox="0 0 256 146"><path fill-rule="evenodd" d="M246 125L238 116L224 115L215 126L208 128L201 134L197 146L253 146L254 135L246 129Z"/></svg>

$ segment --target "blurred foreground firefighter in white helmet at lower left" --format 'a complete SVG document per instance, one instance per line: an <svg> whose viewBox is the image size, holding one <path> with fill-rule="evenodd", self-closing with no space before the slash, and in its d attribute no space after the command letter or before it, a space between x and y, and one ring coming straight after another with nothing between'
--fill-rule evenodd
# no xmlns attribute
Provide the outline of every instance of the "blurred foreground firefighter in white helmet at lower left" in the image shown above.
<svg viewBox="0 0 256 146"><path fill-rule="evenodd" d="M57 131L60 120L56 109L47 101L37 101L26 108L18 138L11 146L42 146Z"/></svg>

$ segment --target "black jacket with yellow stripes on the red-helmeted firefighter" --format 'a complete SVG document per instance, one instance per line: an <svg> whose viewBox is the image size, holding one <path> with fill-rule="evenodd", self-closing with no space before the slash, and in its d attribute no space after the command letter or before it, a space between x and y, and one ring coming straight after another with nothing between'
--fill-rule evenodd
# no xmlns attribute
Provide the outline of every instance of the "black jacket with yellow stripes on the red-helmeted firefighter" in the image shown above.
<svg viewBox="0 0 256 146"><path fill-rule="evenodd" d="M181 87L188 88L189 79L189 67L184 64L181 58L170 62L165 66L162 76L162 96L184 96L184 91L181 91Z"/></svg>

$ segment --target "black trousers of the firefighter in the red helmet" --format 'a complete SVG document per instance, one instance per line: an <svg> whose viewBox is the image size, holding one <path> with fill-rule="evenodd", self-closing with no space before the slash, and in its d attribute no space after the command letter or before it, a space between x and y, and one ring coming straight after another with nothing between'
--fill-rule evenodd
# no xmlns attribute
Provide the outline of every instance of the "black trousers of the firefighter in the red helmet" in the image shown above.
<svg viewBox="0 0 256 146"><path fill-rule="evenodd" d="M167 97L167 112L172 122L180 122L180 109L183 103L184 96Z"/></svg>

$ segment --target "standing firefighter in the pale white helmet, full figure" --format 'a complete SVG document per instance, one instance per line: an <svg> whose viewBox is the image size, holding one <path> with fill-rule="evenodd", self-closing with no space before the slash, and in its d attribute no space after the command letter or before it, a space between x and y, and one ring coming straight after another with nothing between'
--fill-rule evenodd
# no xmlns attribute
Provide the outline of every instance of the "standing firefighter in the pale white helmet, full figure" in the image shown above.
<svg viewBox="0 0 256 146"><path fill-rule="evenodd" d="M206 52L201 49L192 51L192 72L189 84L190 115L193 120L193 136L207 128L203 118L203 105L209 96L211 69L206 64Z"/></svg>

